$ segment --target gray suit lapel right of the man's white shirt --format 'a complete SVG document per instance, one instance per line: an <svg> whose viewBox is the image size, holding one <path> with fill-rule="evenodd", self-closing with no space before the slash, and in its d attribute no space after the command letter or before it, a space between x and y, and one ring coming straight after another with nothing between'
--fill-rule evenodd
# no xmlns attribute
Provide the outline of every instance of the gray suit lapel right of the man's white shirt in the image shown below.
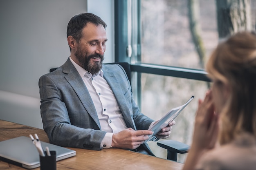
<svg viewBox="0 0 256 170"><path fill-rule="evenodd" d="M128 126L128 128L133 128L134 130L136 130L135 123L130 114L130 109L128 108L128 104L126 103L124 94L121 91L122 88L120 86L120 82L118 81L115 74L109 69L107 69L104 65L102 67L102 70L103 70L103 77L108 82L112 92L115 95L117 103L123 113L124 120L126 121L126 125Z"/></svg>

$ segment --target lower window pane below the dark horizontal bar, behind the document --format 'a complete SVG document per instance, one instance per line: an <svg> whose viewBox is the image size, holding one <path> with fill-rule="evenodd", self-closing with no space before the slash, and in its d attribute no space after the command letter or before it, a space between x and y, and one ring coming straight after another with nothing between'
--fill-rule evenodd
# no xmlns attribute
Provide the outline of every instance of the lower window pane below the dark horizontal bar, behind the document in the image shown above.
<svg viewBox="0 0 256 170"><path fill-rule="evenodd" d="M193 123L198 106L198 99L204 97L207 91L204 81L177 78L171 76L141 74L141 112L154 120L159 120L169 110L184 104L192 95L195 99L175 118L169 139L191 144ZM166 159L165 149L156 142L148 142L157 157ZM183 162L186 155L178 154L177 161Z"/></svg>

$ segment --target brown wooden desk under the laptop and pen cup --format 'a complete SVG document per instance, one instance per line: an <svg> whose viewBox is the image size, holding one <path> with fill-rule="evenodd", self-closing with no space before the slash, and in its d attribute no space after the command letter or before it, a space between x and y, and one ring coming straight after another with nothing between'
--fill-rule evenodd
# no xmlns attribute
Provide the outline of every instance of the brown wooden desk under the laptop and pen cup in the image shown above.
<svg viewBox="0 0 256 170"><path fill-rule="evenodd" d="M35 134L41 141L49 143L44 130L0 120L0 141L19 136ZM181 170L183 164L140 154L123 149L111 148L101 151L70 148L76 156L57 161L57 170ZM0 161L0 170L25 170L10 163ZM35 168L33 170L40 170Z"/></svg>

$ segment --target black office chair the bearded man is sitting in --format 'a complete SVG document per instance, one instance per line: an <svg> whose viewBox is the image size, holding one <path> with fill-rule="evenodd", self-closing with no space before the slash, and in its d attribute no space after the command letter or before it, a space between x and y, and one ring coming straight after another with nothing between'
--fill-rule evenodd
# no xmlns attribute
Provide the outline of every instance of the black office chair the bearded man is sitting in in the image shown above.
<svg viewBox="0 0 256 170"><path fill-rule="evenodd" d="M126 75L131 83L131 70L130 64L128 62L115 62L106 64L119 64L122 66L126 72ZM51 68L50 72L56 70L57 68ZM157 142L157 145L165 148L167 150L167 159L172 161L177 161L177 154L184 154L189 151L190 146L175 140L162 140Z"/></svg>

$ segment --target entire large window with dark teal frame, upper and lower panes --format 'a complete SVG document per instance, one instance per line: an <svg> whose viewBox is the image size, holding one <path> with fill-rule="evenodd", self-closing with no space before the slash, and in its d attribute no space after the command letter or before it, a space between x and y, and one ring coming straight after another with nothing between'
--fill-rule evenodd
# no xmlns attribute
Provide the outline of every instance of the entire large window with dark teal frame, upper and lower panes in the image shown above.
<svg viewBox="0 0 256 170"><path fill-rule="evenodd" d="M116 45L121 48L116 59L131 63L132 91L141 112L157 120L194 95L176 118L170 137L191 144L198 99L204 98L210 86L204 64L222 38L255 30L256 1L118 1ZM127 55L128 43L131 57ZM157 157L166 159L166 150L154 142L149 144ZM185 157L178 155L178 161Z"/></svg>

